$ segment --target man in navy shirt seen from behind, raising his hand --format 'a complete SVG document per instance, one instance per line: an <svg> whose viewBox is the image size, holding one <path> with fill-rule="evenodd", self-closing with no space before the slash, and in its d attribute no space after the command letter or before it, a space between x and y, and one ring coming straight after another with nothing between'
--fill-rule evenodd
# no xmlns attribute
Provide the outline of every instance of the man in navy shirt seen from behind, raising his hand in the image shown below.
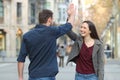
<svg viewBox="0 0 120 80"><path fill-rule="evenodd" d="M67 23L53 27L53 13L42 10L39 13L39 24L22 37L22 44L18 61L19 80L23 80L24 62L26 56L30 60L28 72L29 80L55 80L58 73L56 56L56 40L72 29L75 9L71 4L67 10L70 19Z"/></svg>

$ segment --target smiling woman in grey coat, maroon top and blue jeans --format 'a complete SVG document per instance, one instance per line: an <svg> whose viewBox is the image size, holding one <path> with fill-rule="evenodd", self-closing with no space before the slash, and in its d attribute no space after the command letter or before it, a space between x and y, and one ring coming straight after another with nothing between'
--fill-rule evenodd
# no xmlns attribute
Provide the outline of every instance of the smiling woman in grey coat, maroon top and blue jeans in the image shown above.
<svg viewBox="0 0 120 80"><path fill-rule="evenodd" d="M74 40L67 63L76 64L75 80L104 80L104 47L93 22L83 21L79 35L67 35Z"/></svg>

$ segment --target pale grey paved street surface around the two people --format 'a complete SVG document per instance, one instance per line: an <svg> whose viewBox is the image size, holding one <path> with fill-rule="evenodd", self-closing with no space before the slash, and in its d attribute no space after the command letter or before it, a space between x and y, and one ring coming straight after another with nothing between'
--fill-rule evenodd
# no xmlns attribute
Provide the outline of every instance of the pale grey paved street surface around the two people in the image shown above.
<svg viewBox="0 0 120 80"><path fill-rule="evenodd" d="M24 80L28 77L28 60L25 63ZM69 63L64 68L59 68L59 73L56 76L57 80L74 80L75 65ZM15 59L5 59L2 62L0 59L0 80L18 80L17 78L17 63ZM108 60L105 65L105 79L104 80L120 80L120 61Z"/></svg>

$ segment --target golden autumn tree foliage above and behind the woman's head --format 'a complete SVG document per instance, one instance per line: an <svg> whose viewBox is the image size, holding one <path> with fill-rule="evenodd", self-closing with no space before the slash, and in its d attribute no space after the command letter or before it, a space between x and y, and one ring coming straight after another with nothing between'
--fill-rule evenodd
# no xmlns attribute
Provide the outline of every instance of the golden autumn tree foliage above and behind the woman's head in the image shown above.
<svg viewBox="0 0 120 80"><path fill-rule="evenodd" d="M107 25L112 13L112 6L112 0L98 0L88 9L89 14L91 14L89 17L95 23L99 35Z"/></svg>

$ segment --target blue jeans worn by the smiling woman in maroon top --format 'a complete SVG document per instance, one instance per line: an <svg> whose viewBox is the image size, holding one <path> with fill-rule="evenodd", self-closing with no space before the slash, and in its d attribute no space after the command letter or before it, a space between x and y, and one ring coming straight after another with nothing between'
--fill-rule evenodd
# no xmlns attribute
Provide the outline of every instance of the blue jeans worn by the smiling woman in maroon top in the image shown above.
<svg viewBox="0 0 120 80"><path fill-rule="evenodd" d="M96 74L75 74L75 80L98 80L98 77Z"/></svg>

